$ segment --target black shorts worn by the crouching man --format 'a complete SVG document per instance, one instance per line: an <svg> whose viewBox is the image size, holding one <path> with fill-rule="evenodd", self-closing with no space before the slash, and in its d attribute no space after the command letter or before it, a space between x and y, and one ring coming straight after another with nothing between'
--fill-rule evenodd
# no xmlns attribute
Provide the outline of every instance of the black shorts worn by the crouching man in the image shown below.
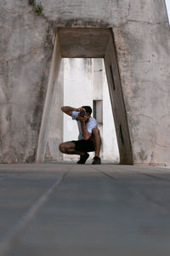
<svg viewBox="0 0 170 256"><path fill-rule="evenodd" d="M79 140L79 141L71 141L71 143L75 143L75 149L80 152L93 152L94 142L92 140Z"/></svg>

